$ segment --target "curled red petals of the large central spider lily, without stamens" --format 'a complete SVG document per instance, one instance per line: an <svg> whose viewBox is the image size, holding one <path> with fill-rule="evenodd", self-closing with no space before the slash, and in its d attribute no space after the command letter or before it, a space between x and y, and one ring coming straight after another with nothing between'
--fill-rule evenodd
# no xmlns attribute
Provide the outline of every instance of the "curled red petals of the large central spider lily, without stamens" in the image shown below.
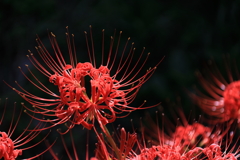
<svg viewBox="0 0 240 160"><path fill-rule="evenodd" d="M91 97L88 97L82 84L86 76L91 77ZM71 121L74 124L82 124L87 129L93 127L87 120L92 121L95 117L103 125L113 122L116 119L113 108L127 104L125 93L118 90L121 85L110 77L105 66L96 69L89 62L78 63L76 68L67 65L62 75L56 73L49 80L58 86L61 98L61 105L56 107L56 116L61 120L73 117ZM63 109L64 105L67 109Z"/></svg>

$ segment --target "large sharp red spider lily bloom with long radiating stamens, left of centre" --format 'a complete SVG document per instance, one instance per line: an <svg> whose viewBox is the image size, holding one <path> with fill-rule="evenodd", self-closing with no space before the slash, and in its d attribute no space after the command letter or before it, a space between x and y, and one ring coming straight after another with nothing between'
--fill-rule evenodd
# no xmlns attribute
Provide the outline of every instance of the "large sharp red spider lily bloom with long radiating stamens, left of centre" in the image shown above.
<svg viewBox="0 0 240 160"><path fill-rule="evenodd" d="M96 66L91 30L91 47L89 47L87 32L85 32L87 50L90 59L90 62L85 63L80 63L77 61L75 44L73 40L74 36L72 35L71 39L68 30L66 35L70 64L65 61L60 47L58 46L56 37L53 33L49 35L49 39L54 50L52 54L48 52L40 39L37 38L38 46L36 47L36 50L40 55L42 62L37 60L37 58L35 58L31 52L30 55L27 55L27 57L37 70L48 77L49 81L58 87L59 95L49 90L43 83L41 83L41 81L32 73L29 68L30 74L37 81L37 83L33 82L33 80L31 80L31 78L25 75L25 73L21 70L23 75L36 88L49 94L53 98L47 99L35 96L23 89L17 82L16 83L20 89L17 90L13 87L12 88L34 107L33 110L27 106L24 106L28 111L55 118L50 118L47 120L38 119L39 121L53 123L50 127L46 127L44 129L51 128L58 124L68 123L68 130L73 128L76 124L81 124L90 130L94 126L96 119L99 122L102 130L106 132L103 127L106 124L115 121L116 118L125 117L134 110L143 108L142 105L145 103L145 101L139 107L130 107L129 104L136 97L140 87L154 73L160 62L157 63L153 68L148 69L145 74L140 75L140 72L148 59L149 53L144 58L143 63L141 63L141 59L145 50L144 48L134 66L130 67L130 64L135 59L133 56L135 52L135 48L133 47L134 43L132 43L128 51L128 55L124 55L127 52L129 38L123 48L122 53L119 53L121 34L122 32L120 32L117 40L115 52L113 51L115 36L111 37L107 61L104 63L105 44L103 30L102 63L99 67ZM47 67L44 67L44 65ZM28 65L26 66L28 67ZM116 68L116 71L115 73L111 73L113 72L114 67ZM90 89L85 85L86 78L90 78L90 82L87 82L90 83ZM88 89L91 92L90 95L87 94L87 92L89 92ZM62 134L65 134L66 132Z"/></svg>

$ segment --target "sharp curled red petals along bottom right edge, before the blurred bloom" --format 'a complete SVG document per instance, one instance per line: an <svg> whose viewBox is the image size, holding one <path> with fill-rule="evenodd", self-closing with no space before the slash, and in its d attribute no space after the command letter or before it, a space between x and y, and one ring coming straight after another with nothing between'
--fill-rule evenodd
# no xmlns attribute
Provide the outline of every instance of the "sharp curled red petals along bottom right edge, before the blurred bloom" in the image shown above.
<svg viewBox="0 0 240 160"><path fill-rule="evenodd" d="M231 145L233 146L230 147ZM191 148L186 148L184 143L152 145L149 148L143 148L140 154L132 158L132 160L237 160L239 157L240 148L238 143L232 143L230 140L224 143L219 141L209 143L206 146Z"/></svg>

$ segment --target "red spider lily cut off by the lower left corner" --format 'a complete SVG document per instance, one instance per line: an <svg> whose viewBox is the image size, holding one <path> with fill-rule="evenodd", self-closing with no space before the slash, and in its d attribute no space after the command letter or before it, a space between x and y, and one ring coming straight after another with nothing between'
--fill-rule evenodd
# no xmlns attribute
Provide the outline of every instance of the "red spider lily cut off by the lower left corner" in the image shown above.
<svg viewBox="0 0 240 160"><path fill-rule="evenodd" d="M1 117L0 124L2 124L2 122L3 122L6 107L7 107L7 104L5 104L5 106L4 106L4 110L2 112L3 114L2 114L2 117ZM49 132L46 135L46 137L44 137L41 141L37 142L36 144L26 147L26 145L31 143L31 141L33 139L35 139L40 133L39 131L30 131L30 132L27 131L28 128L30 127L31 123L32 123L32 120L31 120L29 122L29 124L26 126L25 130L23 130L23 132L20 135L18 135L16 138L12 139L12 136L14 135L14 131L17 129L17 126L19 124L21 113L22 113L22 110L21 110L21 112L17 116L17 120L14 124L15 110L16 110L16 103L14 103L12 119L11 119L11 122L9 124L8 131L6 131L6 132L3 131L3 127L1 127L2 132L0 132L0 135L1 135L0 136L0 158L4 158L4 160L14 160L14 159L16 159L17 157L21 156L22 153L25 152L25 150L28 150L28 149L33 148L33 147L37 146L38 144L40 144L50 133ZM38 123L35 126L34 129L37 130L37 129L41 128L41 126L42 126L42 124ZM23 146L25 146L25 147L23 147ZM52 145L49 145L49 148L51 146ZM36 156L30 157L28 159L34 159L34 158L42 155L49 148L47 148L42 153L40 153Z"/></svg>

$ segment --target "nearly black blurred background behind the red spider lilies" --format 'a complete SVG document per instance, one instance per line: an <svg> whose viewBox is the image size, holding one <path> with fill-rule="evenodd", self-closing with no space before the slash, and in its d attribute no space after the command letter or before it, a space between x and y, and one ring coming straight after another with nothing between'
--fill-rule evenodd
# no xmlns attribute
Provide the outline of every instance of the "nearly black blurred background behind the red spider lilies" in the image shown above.
<svg viewBox="0 0 240 160"><path fill-rule="evenodd" d="M146 47L146 53L151 52L150 59L142 73L165 56L155 74L141 88L132 106L140 105L144 99L147 100L146 106L148 106L158 102L164 104L166 99L175 101L176 97L181 97L181 104L188 112L194 105L185 90L191 91L192 86L198 84L195 72L202 70L209 59L214 59L219 69L224 70L223 55L226 54L230 56L230 59L238 62L239 18L240 1L238 0L2 0L0 2L0 79L11 85L15 85L14 81L17 80L32 93L38 92L20 74L18 66L21 66L27 73L24 64L29 64L29 61L25 55L28 54L28 49L36 53L34 49L37 45L36 34L45 46L51 49L47 29L57 36L58 43L65 54L67 53L65 27L69 26L70 32L75 35L78 60L81 62L88 61L83 31L89 31L89 25L93 26L96 47L101 46L102 29L105 29L106 43L109 42L108 37L116 29L117 33L123 31L122 45L129 36L131 42L135 42L136 55L140 54L142 47ZM96 50L95 53L99 55L101 51ZM34 71L31 65L30 68ZM41 79L41 81L44 83L48 79ZM23 101L6 84L0 83L0 97L9 98L9 108L14 101L18 103ZM4 101L2 103L4 104ZM169 106L166 105L166 107ZM11 115L9 110L7 110L6 119ZM149 112L155 110L152 109ZM133 118L138 122L139 117L144 114L144 111L132 113L125 120L118 120L115 125L121 124L130 128L127 125L129 119ZM27 119L27 116L24 116ZM18 128L21 128L21 125ZM77 133L75 136L81 135L81 137L75 137L75 142L79 146L81 144L82 147L79 149L79 157L84 157L86 132L81 128L74 133ZM53 142L57 136L56 133L52 133L48 139ZM90 136L93 137L89 142L91 148L89 152L92 156L95 135L90 132ZM68 140L69 138L66 141ZM60 142L60 138L58 141ZM39 148L44 148L44 144ZM39 148L35 147L35 150L33 148L34 152L40 153ZM61 142L59 146L55 145L54 151L59 153L60 148Z"/></svg>

